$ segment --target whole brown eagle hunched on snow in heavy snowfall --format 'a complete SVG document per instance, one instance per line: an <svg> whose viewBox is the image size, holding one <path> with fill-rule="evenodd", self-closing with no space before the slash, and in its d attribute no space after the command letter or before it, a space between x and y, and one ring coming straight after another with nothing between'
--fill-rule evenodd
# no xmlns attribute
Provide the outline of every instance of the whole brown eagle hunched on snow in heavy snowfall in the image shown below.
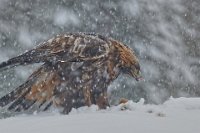
<svg viewBox="0 0 200 133"><path fill-rule="evenodd" d="M141 79L139 60L120 41L100 34L66 33L0 64L0 71L41 63L28 79L0 98L0 107L23 112L51 106L68 114L72 108L109 105L107 88L120 75Z"/></svg>

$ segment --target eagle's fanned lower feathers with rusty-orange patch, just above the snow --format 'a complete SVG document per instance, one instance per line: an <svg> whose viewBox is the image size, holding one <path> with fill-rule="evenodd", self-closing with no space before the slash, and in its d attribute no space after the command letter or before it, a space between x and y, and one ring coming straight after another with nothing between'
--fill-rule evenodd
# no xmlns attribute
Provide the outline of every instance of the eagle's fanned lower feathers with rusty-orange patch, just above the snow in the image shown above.
<svg viewBox="0 0 200 133"><path fill-rule="evenodd" d="M27 82L0 98L0 106L9 105L8 110L20 112L28 110L34 104L41 108L48 102L43 108L49 108L47 106L52 102L53 92L59 81L56 72L44 64Z"/></svg>

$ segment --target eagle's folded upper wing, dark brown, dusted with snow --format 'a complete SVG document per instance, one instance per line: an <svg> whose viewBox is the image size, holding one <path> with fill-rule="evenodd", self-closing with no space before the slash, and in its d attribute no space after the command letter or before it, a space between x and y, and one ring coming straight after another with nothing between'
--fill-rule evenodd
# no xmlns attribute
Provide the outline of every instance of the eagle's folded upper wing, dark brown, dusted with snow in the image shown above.
<svg viewBox="0 0 200 133"><path fill-rule="evenodd" d="M109 52L107 39L101 35L84 33L58 35L22 55L0 64L0 70L18 65L51 62L80 62L96 60Z"/></svg>

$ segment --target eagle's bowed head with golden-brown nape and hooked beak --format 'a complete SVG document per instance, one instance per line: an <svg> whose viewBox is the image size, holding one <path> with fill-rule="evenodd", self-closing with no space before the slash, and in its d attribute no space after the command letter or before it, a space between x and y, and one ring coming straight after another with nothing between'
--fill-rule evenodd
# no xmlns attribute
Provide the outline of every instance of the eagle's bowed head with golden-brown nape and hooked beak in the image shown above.
<svg viewBox="0 0 200 133"><path fill-rule="evenodd" d="M136 81L143 79L141 76L139 60L135 53L122 43L118 42L117 45L116 48L119 51L121 72L130 75L135 78Z"/></svg>

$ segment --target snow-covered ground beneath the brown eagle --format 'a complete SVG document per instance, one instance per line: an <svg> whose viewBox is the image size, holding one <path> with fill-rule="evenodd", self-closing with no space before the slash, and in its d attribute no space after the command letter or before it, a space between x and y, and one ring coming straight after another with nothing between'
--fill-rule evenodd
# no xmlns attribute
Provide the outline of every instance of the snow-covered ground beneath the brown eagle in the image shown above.
<svg viewBox="0 0 200 133"><path fill-rule="evenodd" d="M69 115L40 113L0 120L0 133L199 133L200 98L169 99L162 105L129 101L98 110L72 110Z"/></svg>

